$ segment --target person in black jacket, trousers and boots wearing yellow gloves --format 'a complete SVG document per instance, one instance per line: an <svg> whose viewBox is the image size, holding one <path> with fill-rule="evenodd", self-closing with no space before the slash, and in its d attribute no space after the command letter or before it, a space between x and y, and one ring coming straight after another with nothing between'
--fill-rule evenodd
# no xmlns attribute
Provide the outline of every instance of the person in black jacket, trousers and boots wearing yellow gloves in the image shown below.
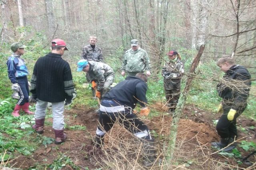
<svg viewBox="0 0 256 170"><path fill-rule="evenodd" d="M223 114L216 129L221 139L220 142L212 142L212 146L225 148L230 144L223 150L223 152L230 152L236 148L236 142L234 142L237 139L236 118L247 106L251 76L244 66L235 64L232 57L220 58L217 65L226 74L217 85L218 94L222 98L217 111Z"/></svg>

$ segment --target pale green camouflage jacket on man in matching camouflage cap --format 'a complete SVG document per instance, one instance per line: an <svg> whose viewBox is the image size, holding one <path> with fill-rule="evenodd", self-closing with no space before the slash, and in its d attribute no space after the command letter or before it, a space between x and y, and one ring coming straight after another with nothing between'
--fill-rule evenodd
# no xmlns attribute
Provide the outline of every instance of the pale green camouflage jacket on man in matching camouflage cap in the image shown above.
<svg viewBox="0 0 256 170"><path fill-rule="evenodd" d="M131 48L125 52L122 71L144 72L145 70L150 71L150 69L150 60L145 50L139 47L137 51L133 51Z"/></svg>

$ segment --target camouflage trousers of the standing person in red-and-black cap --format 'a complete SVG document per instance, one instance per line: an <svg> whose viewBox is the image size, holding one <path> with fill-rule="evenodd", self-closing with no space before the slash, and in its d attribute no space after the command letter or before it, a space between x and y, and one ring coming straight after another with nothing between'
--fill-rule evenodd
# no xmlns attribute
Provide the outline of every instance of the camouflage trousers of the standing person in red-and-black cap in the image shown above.
<svg viewBox="0 0 256 170"><path fill-rule="evenodd" d="M180 98L180 88L178 89L166 89L164 88L166 94L167 106L169 108L169 112L174 112L177 107L179 98Z"/></svg>

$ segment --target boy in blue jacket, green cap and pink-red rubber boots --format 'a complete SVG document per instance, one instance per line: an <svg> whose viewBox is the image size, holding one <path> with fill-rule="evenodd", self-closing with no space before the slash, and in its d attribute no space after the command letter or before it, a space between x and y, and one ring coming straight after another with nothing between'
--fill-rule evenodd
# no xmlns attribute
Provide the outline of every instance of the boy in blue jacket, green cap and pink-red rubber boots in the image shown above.
<svg viewBox="0 0 256 170"><path fill-rule="evenodd" d="M27 114L34 114L29 111L29 89L28 89L28 68L21 56L25 53L23 44L14 42L11 45L13 54L7 60L8 77L12 82L12 90L18 92L20 99L16 104L12 115L20 116L19 111L22 109Z"/></svg>

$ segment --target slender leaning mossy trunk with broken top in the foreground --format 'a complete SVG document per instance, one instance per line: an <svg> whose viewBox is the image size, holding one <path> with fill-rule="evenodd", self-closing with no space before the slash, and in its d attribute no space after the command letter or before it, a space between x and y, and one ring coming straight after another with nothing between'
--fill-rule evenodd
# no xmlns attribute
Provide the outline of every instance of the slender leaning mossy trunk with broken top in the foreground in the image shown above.
<svg viewBox="0 0 256 170"><path fill-rule="evenodd" d="M186 98L188 96L188 92L191 88L191 82L193 80L193 74L194 71L196 70L196 67L198 66L199 62L200 62L200 57L202 56L202 53L204 52L204 45L200 46L200 49L198 51L197 56L194 58L190 70L189 70L189 74L191 76L188 77L187 82L186 82L186 86L183 90L183 92L180 95L180 99L177 105L177 108L175 110L175 113L173 114L172 117L172 124L171 124L171 128L170 128L170 134L169 134L169 143L168 143L168 149L167 149L167 154L166 154L166 161L168 162L168 165L170 165L172 163L172 159L173 159L173 153L175 151L175 144L176 144L176 137L177 137L177 130L178 130L178 122L180 120L180 115L182 114L182 109L185 105L186 102Z"/></svg>

